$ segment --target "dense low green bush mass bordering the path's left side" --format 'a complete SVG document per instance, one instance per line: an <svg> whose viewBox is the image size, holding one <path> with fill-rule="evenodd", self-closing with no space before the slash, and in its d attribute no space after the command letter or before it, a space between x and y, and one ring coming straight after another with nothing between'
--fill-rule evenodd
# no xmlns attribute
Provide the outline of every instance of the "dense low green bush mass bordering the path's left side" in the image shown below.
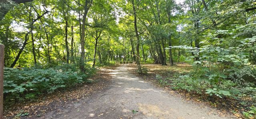
<svg viewBox="0 0 256 119"><path fill-rule="evenodd" d="M44 93L72 87L86 81L96 69L86 68L80 73L76 66L63 64L54 68L4 68L4 98L6 100L32 99Z"/></svg>

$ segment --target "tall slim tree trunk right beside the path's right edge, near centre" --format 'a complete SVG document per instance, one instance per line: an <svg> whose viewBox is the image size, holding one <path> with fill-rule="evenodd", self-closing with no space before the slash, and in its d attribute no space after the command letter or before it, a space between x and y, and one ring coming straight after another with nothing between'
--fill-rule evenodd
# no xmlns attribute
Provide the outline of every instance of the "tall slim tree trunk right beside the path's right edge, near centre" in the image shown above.
<svg viewBox="0 0 256 119"><path fill-rule="evenodd" d="M134 5L134 0L132 0L132 8L133 8L133 16L134 16L134 29L135 29L135 35L137 39L137 45L136 45L136 63L138 66L138 72L139 74L142 74L142 69L140 66L140 37L138 34L138 28L137 28L137 13L136 13L136 8Z"/></svg>

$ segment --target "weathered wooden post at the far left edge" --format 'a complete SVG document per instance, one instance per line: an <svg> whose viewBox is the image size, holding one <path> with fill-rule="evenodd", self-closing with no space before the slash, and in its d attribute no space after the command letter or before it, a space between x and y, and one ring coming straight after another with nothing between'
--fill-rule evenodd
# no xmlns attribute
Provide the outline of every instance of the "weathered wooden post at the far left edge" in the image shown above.
<svg viewBox="0 0 256 119"><path fill-rule="evenodd" d="M4 45L0 44L0 119L3 119L4 101Z"/></svg>

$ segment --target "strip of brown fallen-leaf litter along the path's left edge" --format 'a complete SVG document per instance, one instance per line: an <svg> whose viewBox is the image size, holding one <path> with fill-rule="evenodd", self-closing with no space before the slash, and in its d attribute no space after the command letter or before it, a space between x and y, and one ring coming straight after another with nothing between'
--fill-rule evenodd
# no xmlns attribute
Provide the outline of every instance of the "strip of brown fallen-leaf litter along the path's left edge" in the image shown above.
<svg viewBox="0 0 256 119"><path fill-rule="evenodd" d="M40 117L54 109L60 111L67 104L77 103L81 99L87 98L92 92L107 88L111 83L109 72L100 69L88 79L92 80L92 83L77 84L72 89L58 90L52 94L39 96L36 100L19 101L12 105L4 105L4 119L33 118Z"/></svg>

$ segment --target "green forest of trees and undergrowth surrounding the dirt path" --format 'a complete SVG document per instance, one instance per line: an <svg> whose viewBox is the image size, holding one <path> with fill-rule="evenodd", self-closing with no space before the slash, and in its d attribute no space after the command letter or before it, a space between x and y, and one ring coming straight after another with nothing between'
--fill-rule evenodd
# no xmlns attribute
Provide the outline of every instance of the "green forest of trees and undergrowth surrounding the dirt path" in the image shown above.
<svg viewBox="0 0 256 119"><path fill-rule="evenodd" d="M254 0L1 0L0 44L4 108L135 61L140 76L147 64L170 72L187 64L188 72L154 77L172 90L236 102L234 115L256 119Z"/></svg>

